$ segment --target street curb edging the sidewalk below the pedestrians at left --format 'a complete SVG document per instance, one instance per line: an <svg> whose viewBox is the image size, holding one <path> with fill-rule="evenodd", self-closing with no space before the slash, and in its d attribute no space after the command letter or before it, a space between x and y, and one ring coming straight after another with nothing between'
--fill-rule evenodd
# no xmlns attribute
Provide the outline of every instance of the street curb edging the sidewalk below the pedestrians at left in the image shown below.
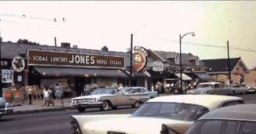
<svg viewBox="0 0 256 134"><path fill-rule="evenodd" d="M73 110L73 109L76 109L76 108L73 107L73 106L68 106L68 107L61 107L61 108L48 108L48 109L38 109L38 110L15 111L12 114L8 114L8 115L32 114L32 113L40 113L40 112L53 112L53 111Z"/></svg>

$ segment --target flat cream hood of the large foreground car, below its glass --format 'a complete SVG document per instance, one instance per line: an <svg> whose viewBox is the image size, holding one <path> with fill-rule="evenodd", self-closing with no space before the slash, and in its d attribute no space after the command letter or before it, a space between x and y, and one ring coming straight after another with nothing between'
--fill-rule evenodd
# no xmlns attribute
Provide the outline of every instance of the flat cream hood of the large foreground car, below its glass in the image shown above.
<svg viewBox="0 0 256 134"><path fill-rule="evenodd" d="M162 124L168 124L176 131L185 133L193 122L183 122L164 118L133 117L131 114L112 114L94 116L73 116L80 125L82 133L160 133ZM189 127L183 127L189 126Z"/></svg>

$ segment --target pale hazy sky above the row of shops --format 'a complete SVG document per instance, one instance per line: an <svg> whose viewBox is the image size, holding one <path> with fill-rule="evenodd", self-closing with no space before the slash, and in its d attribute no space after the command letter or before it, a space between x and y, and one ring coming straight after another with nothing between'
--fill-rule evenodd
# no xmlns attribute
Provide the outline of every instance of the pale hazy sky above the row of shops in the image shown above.
<svg viewBox="0 0 256 134"><path fill-rule="evenodd" d="M3 41L127 52L133 46L191 53L200 59L241 57L256 66L256 1L0 1ZM64 19L63 19L64 18ZM54 21L56 20L56 21Z"/></svg>

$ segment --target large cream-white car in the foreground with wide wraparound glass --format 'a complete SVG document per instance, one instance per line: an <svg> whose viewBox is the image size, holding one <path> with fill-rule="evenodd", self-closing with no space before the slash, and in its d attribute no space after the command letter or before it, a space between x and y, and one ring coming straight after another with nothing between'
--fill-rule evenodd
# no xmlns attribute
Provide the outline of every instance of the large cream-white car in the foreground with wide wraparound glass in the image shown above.
<svg viewBox="0 0 256 134"><path fill-rule="evenodd" d="M150 99L133 114L72 115L74 133L160 133L162 124L178 133L203 114L232 104L243 104L240 97L224 95L169 95Z"/></svg>

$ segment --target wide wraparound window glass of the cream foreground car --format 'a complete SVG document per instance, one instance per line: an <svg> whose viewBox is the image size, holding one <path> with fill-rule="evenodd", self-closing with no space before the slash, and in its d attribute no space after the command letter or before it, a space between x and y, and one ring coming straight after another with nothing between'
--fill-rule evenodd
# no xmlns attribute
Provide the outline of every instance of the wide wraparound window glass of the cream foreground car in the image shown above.
<svg viewBox="0 0 256 134"><path fill-rule="evenodd" d="M176 102L148 102L133 113L135 117L166 118L194 122L209 110L204 106Z"/></svg>

